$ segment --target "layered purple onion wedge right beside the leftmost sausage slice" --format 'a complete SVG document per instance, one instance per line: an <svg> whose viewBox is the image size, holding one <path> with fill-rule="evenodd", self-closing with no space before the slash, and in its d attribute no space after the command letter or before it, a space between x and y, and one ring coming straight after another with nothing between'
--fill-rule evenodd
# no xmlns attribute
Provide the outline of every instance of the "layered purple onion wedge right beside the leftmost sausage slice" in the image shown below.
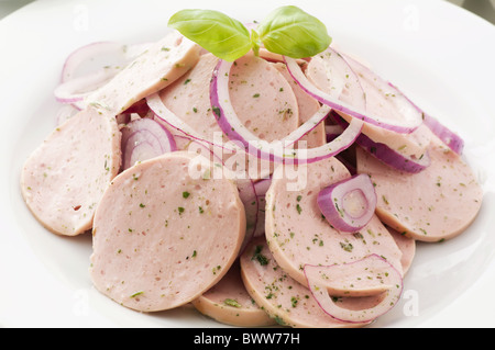
<svg viewBox="0 0 495 350"><path fill-rule="evenodd" d="M122 170L177 149L174 136L151 118L133 120L121 132Z"/></svg>

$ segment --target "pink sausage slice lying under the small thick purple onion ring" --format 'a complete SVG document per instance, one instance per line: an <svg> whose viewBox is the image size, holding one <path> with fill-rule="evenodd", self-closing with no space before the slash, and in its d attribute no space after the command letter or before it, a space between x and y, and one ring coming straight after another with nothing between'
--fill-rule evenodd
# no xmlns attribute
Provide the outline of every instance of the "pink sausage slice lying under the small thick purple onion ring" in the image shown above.
<svg viewBox="0 0 495 350"><path fill-rule="evenodd" d="M350 177L336 158L324 159L298 169L304 178L298 190L278 167L266 193L265 235L277 263L293 279L306 284L305 264L349 263L376 253L402 271L402 252L388 230L374 216L354 234L336 230L322 216L317 197L320 190ZM352 295L351 295L352 296Z"/></svg>

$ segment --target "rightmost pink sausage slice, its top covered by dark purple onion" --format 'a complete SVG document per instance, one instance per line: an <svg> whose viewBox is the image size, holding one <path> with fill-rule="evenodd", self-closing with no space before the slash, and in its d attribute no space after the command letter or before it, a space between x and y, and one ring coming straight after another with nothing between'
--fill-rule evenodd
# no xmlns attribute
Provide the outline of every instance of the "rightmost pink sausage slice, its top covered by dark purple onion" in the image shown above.
<svg viewBox="0 0 495 350"><path fill-rule="evenodd" d="M405 173L356 148L358 172L367 173L378 197L376 213L400 234L440 241L458 236L475 219L483 190L472 169L437 137L428 147L431 165Z"/></svg>

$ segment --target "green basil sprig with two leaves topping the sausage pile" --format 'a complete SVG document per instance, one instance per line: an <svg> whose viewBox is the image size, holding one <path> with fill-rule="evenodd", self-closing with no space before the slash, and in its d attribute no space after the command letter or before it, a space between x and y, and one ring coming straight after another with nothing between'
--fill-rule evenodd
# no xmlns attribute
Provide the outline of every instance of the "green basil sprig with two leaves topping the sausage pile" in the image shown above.
<svg viewBox="0 0 495 350"><path fill-rule="evenodd" d="M257 30L252 29L251 32L222 12L199 9L175 13L168 26L228 61L251 49L257 55L262 45L272 53L293 58L311 57L331 43L324 24L294 5L274 10Z"/></svg>

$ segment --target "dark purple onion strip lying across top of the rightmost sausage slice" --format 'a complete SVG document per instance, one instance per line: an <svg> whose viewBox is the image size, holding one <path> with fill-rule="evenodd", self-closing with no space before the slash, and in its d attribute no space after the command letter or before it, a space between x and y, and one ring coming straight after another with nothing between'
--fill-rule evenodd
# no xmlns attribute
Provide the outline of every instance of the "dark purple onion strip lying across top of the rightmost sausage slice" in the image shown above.
<svg viewBox="0 0 495 350"><path fill-rule="evenodd" d="M330 117L345 127L346 122L339 114L331 113ZM385 144L375 143L364 134L358 136L355 143L384 163L400 171L418 173L428 168L431 163L428 151L425 151L419 158L411 157L407 154L396 151Z"/></svg>

